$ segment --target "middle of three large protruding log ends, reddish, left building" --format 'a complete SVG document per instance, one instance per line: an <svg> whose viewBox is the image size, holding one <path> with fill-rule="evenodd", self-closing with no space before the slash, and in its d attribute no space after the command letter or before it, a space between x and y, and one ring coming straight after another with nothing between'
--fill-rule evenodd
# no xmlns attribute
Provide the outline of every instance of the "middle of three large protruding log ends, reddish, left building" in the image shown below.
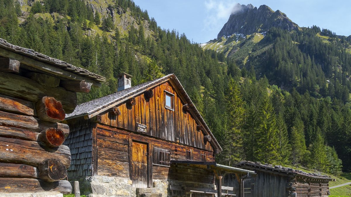
<svg viewBox="0 0 351 197"><path fill-rule="evenodd" d="M55 148L62 145L65 141L65 133L61 129L48 128L41 131L38 141L42 142L49 148Z"/></svg>

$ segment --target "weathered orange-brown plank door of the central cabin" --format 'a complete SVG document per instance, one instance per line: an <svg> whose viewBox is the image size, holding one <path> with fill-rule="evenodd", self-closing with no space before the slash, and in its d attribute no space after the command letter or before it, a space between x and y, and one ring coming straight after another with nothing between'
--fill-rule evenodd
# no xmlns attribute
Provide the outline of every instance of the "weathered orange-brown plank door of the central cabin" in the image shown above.
<svg viewBox="0 0 351 197"><path fill-rule="evenodd" d="M135 188L147 188L147 144L132 142L131 179Z"/></svg>

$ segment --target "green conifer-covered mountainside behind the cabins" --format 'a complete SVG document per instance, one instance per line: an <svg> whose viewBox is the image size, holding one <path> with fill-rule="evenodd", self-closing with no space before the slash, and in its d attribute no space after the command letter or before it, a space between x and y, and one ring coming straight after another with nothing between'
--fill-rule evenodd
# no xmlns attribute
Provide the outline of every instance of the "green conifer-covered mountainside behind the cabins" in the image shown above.
<svg viewBox="0 0 351 197"><path fill-rule="evenodd" d="M131 0L30 2L0 0L0 37L106 76L79 102L117 91L120 72L132 85L174 73L223 147L219 163L351 170L351 57L318 27L225 38L237 48L222 53L158 27Z"/></svg>

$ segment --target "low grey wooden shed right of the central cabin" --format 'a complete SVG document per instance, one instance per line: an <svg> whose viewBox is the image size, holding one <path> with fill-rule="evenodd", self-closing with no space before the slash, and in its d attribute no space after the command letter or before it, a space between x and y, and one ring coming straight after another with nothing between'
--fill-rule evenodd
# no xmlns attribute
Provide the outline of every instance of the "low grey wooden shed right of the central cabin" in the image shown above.
<svg viewBox="0 0 351 197"><path fill-rule="evenodd" d="M260 162L243 161L234 166L257 172L256 176L244 180L245 197L327 197L330 194L332 179L325 175Z"/></svg>

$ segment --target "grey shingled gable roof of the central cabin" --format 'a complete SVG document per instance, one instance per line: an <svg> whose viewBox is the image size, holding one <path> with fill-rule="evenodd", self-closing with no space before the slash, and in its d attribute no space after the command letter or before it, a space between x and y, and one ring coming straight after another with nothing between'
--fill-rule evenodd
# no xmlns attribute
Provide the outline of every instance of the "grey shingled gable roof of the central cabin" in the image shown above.
<svg viewBox="0 0 351 197"><path fill-rule="evenodd" d="M171 83L174 84L178 88L179 92L184 97L185 102L187 104L189 104L191 111L192 111L191 113L193 113L193 115L195 117L197 117L197 119L204 126L208 135L211 136L212 141L214 142L213 145L215 145L216 149L218 149L219 151L222 151L222 148L220 147L216 138L213 136L210 128L208 128L203 117L200 115L199 111L196 109L193 102L191 101L189 95L185 92L184 87L181 85L180 81L178 80L178 78L174 74L169 74L169 75L160 77L159 79L155 79L152 81L141 83L137 86L133 86L131 88L127 88L127 89L118 91L116 93L113 93L113 94L110 94L110 95L107 95L107 96L104 96L104 97L101 97L98 99L94 99L94 100L88 101L86 103L79 104L71 114L66 115L66 120L80 117L80 116L86 116L88 118L92 118L92 117L126 101L127 99L134 97L134 96L137 96L137 95L143 93L144 91L146 91L150 88L153 88L153 87L155 87L161 83L164 83L166 81L171 81Z"/></svg>

